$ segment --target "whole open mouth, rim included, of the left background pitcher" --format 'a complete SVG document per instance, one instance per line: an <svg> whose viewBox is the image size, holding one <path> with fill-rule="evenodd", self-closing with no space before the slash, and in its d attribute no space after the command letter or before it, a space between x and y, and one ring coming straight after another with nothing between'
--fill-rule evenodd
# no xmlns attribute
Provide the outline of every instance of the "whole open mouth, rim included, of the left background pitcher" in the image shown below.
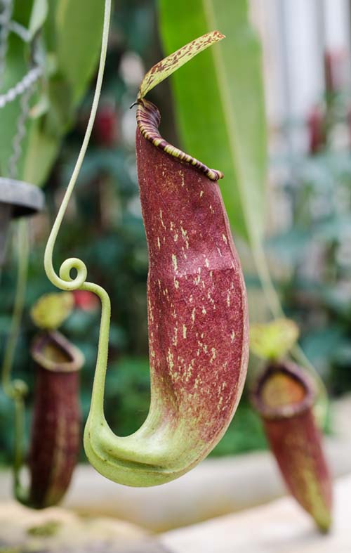
<svg viewBox="0 0 351 553"><path fill-rule="evenodd" d="M53 372L75 372L84 364L84 356L58 331L42 332L31 348L34 361Z"/></svg>

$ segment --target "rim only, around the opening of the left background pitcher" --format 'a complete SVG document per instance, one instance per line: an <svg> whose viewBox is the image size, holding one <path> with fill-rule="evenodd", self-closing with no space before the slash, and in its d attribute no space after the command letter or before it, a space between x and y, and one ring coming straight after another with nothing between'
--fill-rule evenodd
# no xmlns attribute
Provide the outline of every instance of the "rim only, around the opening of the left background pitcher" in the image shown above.
<svg viewBox="0 0 351 553"><path fill-rule="evenodd" d="M49 359L43 351L49 343L58 347L69 360L60 362ZM46 330L38 334L34 338L30 353L38 365L52 372L76 372L84 365L83 353L57 330Z"/></svg>

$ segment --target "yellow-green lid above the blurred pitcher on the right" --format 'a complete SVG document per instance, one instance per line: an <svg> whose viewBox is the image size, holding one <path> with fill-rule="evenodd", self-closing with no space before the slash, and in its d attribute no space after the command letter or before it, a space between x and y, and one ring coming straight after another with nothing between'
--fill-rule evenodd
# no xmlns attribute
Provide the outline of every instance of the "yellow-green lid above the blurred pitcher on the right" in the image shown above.
<svg viewBox="0 0 351 553"><path fill-rule="evenodd" d="M291 319L251 325L250 349L265 360L279 360L295 346L298 334L298 325Z"/></svg>

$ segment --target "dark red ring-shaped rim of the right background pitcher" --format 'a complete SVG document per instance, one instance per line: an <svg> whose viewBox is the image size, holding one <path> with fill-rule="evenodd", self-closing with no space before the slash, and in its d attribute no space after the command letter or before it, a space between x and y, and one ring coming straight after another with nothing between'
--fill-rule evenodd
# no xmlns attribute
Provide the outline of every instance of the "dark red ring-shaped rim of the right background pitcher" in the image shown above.
<svg viewBox="0 0 351 553"><path fill-rule="evenodd" d="M298 382L305 389L305 396L301 401L297 403L290 403L289 405L279 405L279 407L270 407L263 402L261 392L263 385L267 382L272 375L278 373L288 375ZM312 379L306 374L305 370L292 363L291 361L279 361L277 363L269 363L263 370L262 374L256 380L256 385L251 394L251 401L260 413L263 419L279 420L290 419L296 417L306 410L312 408L316 398L316 389Z"/></svg>

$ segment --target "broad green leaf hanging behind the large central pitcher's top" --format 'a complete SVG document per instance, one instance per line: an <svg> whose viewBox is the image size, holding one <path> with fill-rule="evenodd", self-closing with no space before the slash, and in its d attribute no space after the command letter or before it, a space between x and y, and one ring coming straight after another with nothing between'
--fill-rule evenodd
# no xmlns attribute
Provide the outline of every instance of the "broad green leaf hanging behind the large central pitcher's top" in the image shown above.
<svg viewBox="0 0 351 553"><path fill-rule="evenodd" d="M165 54L213 29L225 40L171 77L183 148L223 171L233 230L263 237L266 124L261 52L246 0L159 0Z"/></svg>

